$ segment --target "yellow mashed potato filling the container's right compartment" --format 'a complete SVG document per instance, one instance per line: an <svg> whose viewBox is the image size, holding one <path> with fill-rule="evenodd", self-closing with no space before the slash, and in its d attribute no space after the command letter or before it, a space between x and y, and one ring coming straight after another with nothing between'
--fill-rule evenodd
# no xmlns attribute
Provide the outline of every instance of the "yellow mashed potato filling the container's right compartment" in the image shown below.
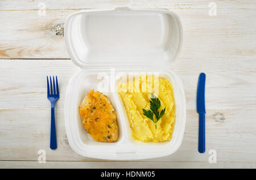
<svg viewBox="0 0 256 180"><path fill-rule="evenodd" d="M117 90L125 106L133 138L140 142L163 142L170 140L175 121L172 85L168 80L154 76L140 76L134 81L118 84ZM142 109L150 109L151 93L156 95L166 113L155 124L143 115Z"/></svg>

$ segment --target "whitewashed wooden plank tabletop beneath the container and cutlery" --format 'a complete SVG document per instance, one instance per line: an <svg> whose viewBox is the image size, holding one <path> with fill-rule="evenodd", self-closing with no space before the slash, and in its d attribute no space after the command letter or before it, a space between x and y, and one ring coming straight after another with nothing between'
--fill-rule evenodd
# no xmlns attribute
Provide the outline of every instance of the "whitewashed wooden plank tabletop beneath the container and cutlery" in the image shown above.
<svg viewBox="0 0 256 180"><path fill-rule="evenodd" d="M0 168L256 168L255 1L210 2L0 1ZM183 80L187 123L181 147L171 156L102 161L81 157L68 144L64 95L79 67L69 59L63 36L54 28L80 9L115 6L168 8L181 18L183 48L170 68ZM200 72L207 74L204 154L197 152ZM46 75L55 74L60 99L56 105L58 148L52 151ZM46 150L46 163L38 162L39 149ZM216 150L217 163L209 163L210 149Z"/></svg>

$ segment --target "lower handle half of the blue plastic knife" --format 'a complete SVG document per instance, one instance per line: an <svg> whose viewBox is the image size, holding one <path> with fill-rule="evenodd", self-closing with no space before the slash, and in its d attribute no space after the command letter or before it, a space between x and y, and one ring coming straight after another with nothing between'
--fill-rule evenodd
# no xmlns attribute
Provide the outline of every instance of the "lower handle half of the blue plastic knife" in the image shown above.
<svg viewBox="0 0 256 180"><path fill-rule="evenodd" d="M205 113L199 113L199 142L198 151L205 152Z"/></svg>

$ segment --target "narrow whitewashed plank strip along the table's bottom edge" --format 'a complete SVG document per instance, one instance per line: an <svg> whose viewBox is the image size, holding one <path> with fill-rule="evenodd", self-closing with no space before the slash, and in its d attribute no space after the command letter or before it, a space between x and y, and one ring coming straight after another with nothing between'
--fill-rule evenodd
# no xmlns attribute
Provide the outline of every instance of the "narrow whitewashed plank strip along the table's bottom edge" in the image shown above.
<svg viewBox="0 0 256 180"><path fill-rule="evenodd" d="M218 163L204 163L204 162L67 162L67 161L49 161L46 163L38 163L36 161L0 161L0 168L65 168L65 169L94 169L94 168L256 168L255 164L248 164L245 162L218 162Z"/></svg>

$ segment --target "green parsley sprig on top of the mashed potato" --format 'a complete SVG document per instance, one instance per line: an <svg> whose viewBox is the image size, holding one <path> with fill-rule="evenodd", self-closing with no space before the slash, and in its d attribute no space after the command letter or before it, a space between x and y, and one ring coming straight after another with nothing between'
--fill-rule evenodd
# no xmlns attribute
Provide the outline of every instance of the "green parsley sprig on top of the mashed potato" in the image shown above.
<svg viewBox="0 0 256 180"><path fill-rule="evenodd" d="M143 110L143 114L151 119L154 123L155 123L155 128L156 128L156 123L159 121L159 119L161 119L164 115L164 113L166 112L166 108L164 108L160 113L159 113L159 109L161 106L161 102L159 100L159 98L156 98L156 96L154 96L153 94L151 94L151 101L150 101L150 110L146 110L146 109L142 109ZM155 120L154 120L154 115L155 114Z"/></svg>

